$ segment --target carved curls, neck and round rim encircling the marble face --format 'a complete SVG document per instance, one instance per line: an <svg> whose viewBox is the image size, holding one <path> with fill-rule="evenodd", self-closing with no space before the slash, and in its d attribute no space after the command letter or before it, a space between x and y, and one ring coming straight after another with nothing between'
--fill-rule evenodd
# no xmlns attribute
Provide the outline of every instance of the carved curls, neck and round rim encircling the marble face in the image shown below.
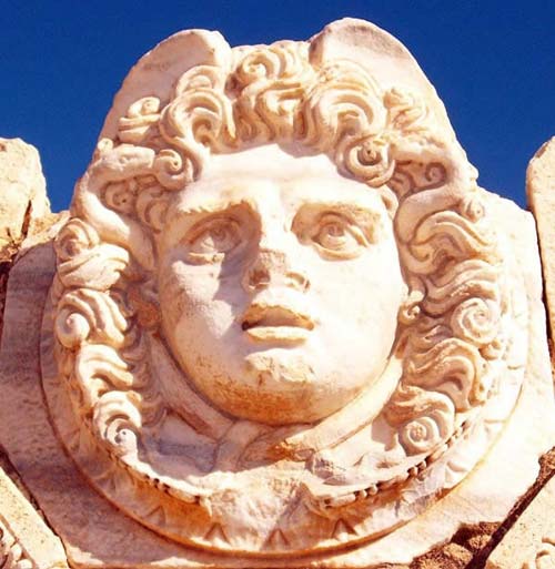
<svg viewBox="0 0 555 569"><path fill-rule="evenodd" d="M383 535L473 468L523 379L513 346L526 345L515 318L525 303L508 289L514 274L474 170L416 92L384 90L359 62L319 57L322 37L209 45L226 55L190 65L165 98L131 101L57 237L42 362L60 439L119 508L189 546L299 556ZM211 153L281 141L329 154L380 192L393 219L410 294L374 414L373 392L310 426L235 420L186 387L160 337L153 243L173 192L202 175ZM159 460L171 414L212 445L206 473ZM373 428L386 434L380 453L339 457ZM289 469L275 467L283 460ZM289 506L264 522L269 495Z"/></svg>

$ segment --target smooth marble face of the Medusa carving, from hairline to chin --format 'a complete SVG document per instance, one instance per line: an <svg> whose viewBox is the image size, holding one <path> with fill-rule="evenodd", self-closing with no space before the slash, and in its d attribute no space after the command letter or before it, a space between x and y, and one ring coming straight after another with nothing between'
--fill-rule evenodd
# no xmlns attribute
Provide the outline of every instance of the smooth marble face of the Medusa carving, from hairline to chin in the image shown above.
<svg viewBox="0 0 555 569"><path fill-rule="evenodd" d="M160 248L165 336L221 409L313 421L383 372L405 289L392 223L325 155L213 155Z"/></svg>

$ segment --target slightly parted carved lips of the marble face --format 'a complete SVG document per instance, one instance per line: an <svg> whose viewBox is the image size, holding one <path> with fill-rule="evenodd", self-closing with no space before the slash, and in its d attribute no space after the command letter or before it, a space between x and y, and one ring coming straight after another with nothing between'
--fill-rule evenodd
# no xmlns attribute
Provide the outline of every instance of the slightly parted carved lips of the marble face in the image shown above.
<svg viewBox="0 0 555 569"><path fill-rule="evenodd" d="M243 315L241 327L256 342L304 342L314 328L314 321L282 305L251 305Z"/></svg>

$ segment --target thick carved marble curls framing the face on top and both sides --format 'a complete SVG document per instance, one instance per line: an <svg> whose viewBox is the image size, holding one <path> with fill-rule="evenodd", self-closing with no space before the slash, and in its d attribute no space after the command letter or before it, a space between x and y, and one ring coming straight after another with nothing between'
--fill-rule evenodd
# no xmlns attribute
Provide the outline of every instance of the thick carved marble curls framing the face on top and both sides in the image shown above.
<svg viewBox="0 0 555 569"><path fill-rule="evenodd" d="M141 274L153 274L172 192L201 176L211 153L293 142L379 191L393 219L410 294L403 375L384 416L406 455L437 454L487 398L504 352L500 255L474 169L417 93L383 92L354 62L314 63L301 42L233 55L229 69L191 68L169 100L131 104L80 181L53 288L57 357L77 414L120 457L160 419L142 335L155 326L144 299L153 285Z"/></svg>

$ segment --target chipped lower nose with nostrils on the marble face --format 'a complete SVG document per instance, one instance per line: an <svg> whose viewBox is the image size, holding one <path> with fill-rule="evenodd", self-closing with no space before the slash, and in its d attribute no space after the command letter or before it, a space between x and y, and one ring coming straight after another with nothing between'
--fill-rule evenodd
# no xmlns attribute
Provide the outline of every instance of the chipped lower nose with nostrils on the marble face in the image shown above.
<svg viewBox="0 0 555 569"><path fill-rule="evenodd" d="M304 292L309 289L310 282L303 271L291 266L289 255L284 252L259 250L243 275L243 287L253 292L269 286L285 286Z"/></svg>

